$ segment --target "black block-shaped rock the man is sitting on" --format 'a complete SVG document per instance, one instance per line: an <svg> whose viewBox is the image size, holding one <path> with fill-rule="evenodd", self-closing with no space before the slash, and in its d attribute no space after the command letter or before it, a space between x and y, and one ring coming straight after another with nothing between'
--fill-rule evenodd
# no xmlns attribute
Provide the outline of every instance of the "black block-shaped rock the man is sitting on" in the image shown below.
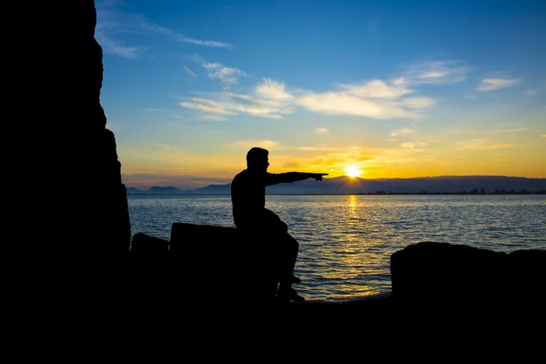
<svg viewBox="0 0 546 364"><path fill-rule="evenodd" d="M254 244L235 227L173 223L172 274L189 277L191 294L204 299L268 301L277 287L273 246Z"/></svg>

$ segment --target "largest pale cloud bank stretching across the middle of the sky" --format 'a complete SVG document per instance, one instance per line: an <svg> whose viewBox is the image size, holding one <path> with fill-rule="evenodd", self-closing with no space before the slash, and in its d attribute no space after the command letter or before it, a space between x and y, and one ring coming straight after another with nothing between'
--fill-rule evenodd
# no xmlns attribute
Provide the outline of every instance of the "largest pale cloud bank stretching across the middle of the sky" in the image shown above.
<svg viewBox="0 0 546 364"><path fill-rule="evenodd" d="M435 105L430 97L414 96L416 90L404 85L400 79L342 84L329 92L317 93L305 89L290 90L284 82L265 77L252 92L238 94L231 89L238 85L241 76L248 76L243 70L219 63L200 64L207 70L208 78L218 80L224 89L216 99L208 100L215 103L214 107L210 103L204 104L203 99L190 99L180 104L201 112L219 113L221 110L226 114L229 112L229 115L278 119L301 107L326 115L419 119L426 109Z"/></svg>

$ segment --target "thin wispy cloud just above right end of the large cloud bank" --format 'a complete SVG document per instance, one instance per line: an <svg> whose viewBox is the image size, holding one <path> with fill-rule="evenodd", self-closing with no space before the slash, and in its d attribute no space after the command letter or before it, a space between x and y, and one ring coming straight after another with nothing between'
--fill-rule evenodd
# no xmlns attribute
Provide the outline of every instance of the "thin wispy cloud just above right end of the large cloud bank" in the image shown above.
<svg viewBox="0 0 546 364"><path fill-rule="evenodd" d="M403 76L397 80L398 85L432 84L445 85L464 81L470 73L468 66L460 62L445 60L414 63L406 67Z"/></svg>

